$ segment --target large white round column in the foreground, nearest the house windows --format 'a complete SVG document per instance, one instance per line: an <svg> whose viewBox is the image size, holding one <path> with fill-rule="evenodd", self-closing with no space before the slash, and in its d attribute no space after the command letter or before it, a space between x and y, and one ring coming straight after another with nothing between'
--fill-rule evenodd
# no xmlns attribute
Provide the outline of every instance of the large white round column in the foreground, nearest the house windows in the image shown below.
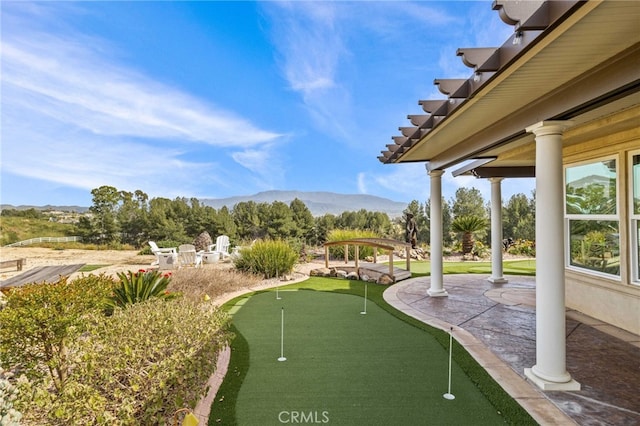
<svg viewBox="0 0 640 426"><path fill-rule="evenodd" d="M526 129L536 137L536 364L525 375L543 390L580 390L566 368L562 133L571 124Z"/></svg>

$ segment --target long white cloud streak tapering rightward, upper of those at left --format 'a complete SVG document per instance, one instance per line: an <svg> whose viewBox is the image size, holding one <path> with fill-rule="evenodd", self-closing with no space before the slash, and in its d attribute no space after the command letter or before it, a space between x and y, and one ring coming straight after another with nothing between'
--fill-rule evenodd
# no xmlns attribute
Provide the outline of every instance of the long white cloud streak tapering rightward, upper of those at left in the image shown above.
<svg viewBox="0 0 640 426"><path fill-rule="evenodd" d="M280 135L53 36L3 40L3 104L96 134L171 138L215 146ZM243 135L239 138L238 135Z"/></svg>

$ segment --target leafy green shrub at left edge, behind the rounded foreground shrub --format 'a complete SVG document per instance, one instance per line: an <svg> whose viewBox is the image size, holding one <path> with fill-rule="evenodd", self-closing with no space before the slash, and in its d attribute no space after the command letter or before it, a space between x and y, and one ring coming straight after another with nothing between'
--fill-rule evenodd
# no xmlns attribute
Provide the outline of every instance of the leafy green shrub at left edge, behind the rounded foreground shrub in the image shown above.
<svg viewBox="0 0 640 426"><path fill-rule="evenodd" d="M69 345L84 331L84 316L99 311L113 284L104 275L90 275L8 291L0 310L0 364L32 380L48 376L60 392L70 368Z"/></svg>

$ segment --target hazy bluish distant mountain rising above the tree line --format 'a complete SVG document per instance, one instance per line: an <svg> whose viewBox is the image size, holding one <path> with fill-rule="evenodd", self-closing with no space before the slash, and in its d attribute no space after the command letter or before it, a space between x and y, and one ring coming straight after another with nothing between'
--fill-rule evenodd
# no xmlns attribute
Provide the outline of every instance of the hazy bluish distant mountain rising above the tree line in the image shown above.
<svg viewBox="0 0 640 426"><path fill-rule="evenodd" d="M402 211L407 208L407 203L389 200L364 194L337 194L335 192L304 192L304 191L265 191L254 195L244 195L229 198L204 198L200 201L206 206L219 209L223 206L232 209L240 202L254 201L256 203L273 203L281 201L289 204L294 199L302 201L314 216L323 216L327 213L339 215L345 211L358 211L365 209L372 212L381 212L390 218L402 216Z"/></svg>

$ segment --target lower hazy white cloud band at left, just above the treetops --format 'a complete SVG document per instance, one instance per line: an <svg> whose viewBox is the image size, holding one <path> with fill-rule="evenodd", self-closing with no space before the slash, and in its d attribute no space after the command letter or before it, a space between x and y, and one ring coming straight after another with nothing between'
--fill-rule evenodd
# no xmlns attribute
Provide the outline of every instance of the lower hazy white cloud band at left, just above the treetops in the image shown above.
<svg viewBox="0 0 640 426"><path fill-rule="evenodd" d="M184 151L176 146L131 143L121 137L69 129L55 121L30 127L3 111L6 123L13 124L10 129L3 125L2 168L6 173L82 189L101 185L142 189L163 197L197 194L203 181L224 183L212 173L218 164L183 160ZM19 143L5 143L5 135Z"/></svg>

